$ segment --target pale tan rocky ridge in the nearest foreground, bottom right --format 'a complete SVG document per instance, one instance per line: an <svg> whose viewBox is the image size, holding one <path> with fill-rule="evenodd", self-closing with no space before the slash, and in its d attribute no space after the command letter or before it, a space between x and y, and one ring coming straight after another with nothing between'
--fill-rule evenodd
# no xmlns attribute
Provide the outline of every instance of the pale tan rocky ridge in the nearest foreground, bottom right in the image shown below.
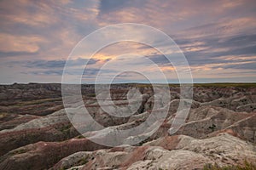
<svg viewBox="0 0 256 170"><path fill-rule="evenodd" d="M256 161L256 147L229 133L209 139L166 136L143 146L120 146L110 150L78 152L52 169L202 169L207 163L220 166Z"/></svg>

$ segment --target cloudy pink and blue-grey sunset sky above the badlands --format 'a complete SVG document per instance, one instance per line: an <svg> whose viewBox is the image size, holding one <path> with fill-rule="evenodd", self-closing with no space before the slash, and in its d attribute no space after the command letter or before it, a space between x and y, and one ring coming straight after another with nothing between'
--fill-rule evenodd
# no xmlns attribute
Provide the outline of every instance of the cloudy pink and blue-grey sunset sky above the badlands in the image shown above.
<svg viewBox="0 0 256 170"><path fill-rule="evenodd" d="M0 21L1 84L61 82L68 56L84 37L122 23L151 26L171 37L180 50L169 54L184 54L194 82L256 82L253 0L2 0ZM118 36L108 32L89 45L96 47ZM84 50L69 61L71 82L81 78L93 83L100 73L102 82L148 82L145 75L152 76L149 82L162 82L156 73L159 68L168 82L178 82L175 66L140 42L113 43L93 56ZM76 69L86 63L80 77ZM125 71L127 65L130 71Z"/></svg>

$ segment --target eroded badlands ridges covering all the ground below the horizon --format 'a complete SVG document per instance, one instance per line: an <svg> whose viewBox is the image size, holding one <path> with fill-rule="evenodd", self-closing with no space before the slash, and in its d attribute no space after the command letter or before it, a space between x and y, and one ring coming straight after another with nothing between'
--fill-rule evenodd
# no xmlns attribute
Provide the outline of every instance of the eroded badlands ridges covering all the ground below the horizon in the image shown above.
<svg viewBox="0 0 256 170"><path fill-rule="evenodd" d="M140 95L132 95L133 89ZM73 112L72 117L67 116L61 84L1 85L0 169L160 170L202 169L209 163L220 167L255 163L256 85L195 84L193 90L193 100L189 101L181 96L177 85L170 85L171 98L165 100L161 88L156 95L148 84L115 84L111 96L101 103L104 91L95 94L93 85L82 85L83 105L106 127L94 129L91 122L78 126L70 122L82 114L82 104L66 108ZM111 101L119 110L114 110ZM183 125L171 135L180 101L191 104L191 109ZM154 106L158 106L156 111ZM164 118L159 116L165 111ZM152 115L159 118L154 123L162 122L159 128L152 128L152 123L142 133L131 131L123 139L115 136L147 122ZM86 138L80 129L85 129ZM120 145L110 147L90 139L108 139Z"/></svg>

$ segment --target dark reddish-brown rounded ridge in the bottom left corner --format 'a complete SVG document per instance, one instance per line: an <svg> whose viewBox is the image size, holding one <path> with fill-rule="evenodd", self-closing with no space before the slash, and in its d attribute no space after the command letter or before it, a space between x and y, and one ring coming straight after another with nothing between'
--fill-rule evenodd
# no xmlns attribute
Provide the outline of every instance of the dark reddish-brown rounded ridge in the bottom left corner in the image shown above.
<svg viewBox="0 0 256 170"><path fill-rule="evenodd" d="M65 156L80 150L106 148L88 139L70 139L64 142L38 142L10 151L1 157L0 169L45 169Z"/></svg>

